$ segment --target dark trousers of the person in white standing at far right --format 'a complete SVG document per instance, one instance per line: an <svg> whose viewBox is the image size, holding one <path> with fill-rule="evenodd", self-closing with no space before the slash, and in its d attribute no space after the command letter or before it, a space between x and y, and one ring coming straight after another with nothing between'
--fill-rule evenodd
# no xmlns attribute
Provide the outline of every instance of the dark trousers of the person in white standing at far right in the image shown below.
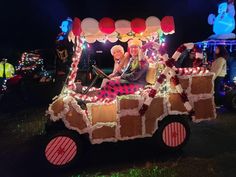
<svg viewBox="0 0 236 177"><path fill-rule="evenodd" d="M215 104L220 105L221 92L223 91L223 85L224 85L224 77L216 77L214 84L215 84L215 87L214 87Z"/></svg>

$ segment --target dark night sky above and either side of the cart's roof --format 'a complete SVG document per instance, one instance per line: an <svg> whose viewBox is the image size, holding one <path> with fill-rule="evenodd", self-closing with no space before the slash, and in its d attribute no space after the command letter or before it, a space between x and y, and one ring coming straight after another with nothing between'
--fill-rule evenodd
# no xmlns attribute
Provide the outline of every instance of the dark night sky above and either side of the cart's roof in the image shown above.
<svg viewBox="0 0 236 177"><path fill-rule="evenodd" d="M207 24L209 13L217 12L217 0L4 0L0 6L0 57L16 51L52 48L59 25L69 17L108 16L131 20L166 15L174 16L176 32L168 36L175 48L183 42L206 39L212 31Z"/></svg>

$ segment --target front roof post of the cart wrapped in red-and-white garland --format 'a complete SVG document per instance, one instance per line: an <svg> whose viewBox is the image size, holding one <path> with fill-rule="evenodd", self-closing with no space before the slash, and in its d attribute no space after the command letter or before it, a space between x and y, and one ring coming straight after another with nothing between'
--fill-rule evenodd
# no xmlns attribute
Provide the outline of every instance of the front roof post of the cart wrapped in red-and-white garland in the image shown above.
<svg viewBox="0 0 236 177"><path fill-rule="evenodd" d="M76 37L76 43L75 43L75 52L74 55L72 56L72 64L71 64L71 73L69 76L69 80L68 80L68 88L75 90L76 89L76 85L75 85L75 78L77 75L77 71L78 71L78 64L80 62L80 57L82 54L82 44L79 41L79 38Z"/></svg>

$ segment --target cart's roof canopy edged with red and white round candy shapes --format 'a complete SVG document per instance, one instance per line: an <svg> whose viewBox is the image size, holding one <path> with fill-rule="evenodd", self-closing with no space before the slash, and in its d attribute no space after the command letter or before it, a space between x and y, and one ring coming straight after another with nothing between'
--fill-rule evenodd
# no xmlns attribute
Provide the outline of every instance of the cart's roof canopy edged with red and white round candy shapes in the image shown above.
<svg viewBox="0 0 236 177"><path fill-rule="evenodd" d="M125 19L114 21L109 17L104 17L99 21L94 18L85 18L81 21L76 17L68 38L73 41L75 36L79 36L88 43L106 40L127 42L131 38L147 41L149 37L158 36L159 33L172 34L174 32L175 24L172 16L165 16L162 20L150 16L147 19L134 18L131 21Z"/></svg>

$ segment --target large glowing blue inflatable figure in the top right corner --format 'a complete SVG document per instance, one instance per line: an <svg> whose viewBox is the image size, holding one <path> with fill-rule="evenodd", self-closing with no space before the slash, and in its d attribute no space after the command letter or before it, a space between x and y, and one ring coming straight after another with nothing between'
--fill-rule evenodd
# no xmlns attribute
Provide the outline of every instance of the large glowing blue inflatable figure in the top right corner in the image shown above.
<svg viewBox="0 0 236 177"><path fill-rule="evenodd" d="M235 29L235 8L233 2L222 2L218 6L218 15L210 14L208 23L213 25L214 35L210 39L232 39L235 34L232 33Z"/></svg>

